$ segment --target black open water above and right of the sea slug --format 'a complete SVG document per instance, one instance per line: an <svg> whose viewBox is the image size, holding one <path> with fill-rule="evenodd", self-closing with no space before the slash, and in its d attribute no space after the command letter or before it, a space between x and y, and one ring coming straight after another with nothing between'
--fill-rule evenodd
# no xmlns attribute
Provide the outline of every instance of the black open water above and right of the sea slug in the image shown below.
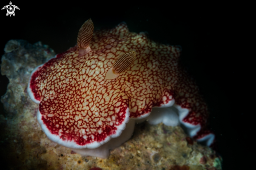
<svg viewBox="0 0 256 170"><path fill-rule="evenodd" d="M155 4L149 7L127 2L126 6L99 7L78 2L40 3L13 2L20 8L15 10L15 17L6 17L6 10L1 10L1 56L10 39L41 41L56 53L63 52L75 45L77 32L88 18L92 18L95 29L112 28L125 21L130 31L147 31L155 41L180 45L182 64L196 80L208 104L218 152L224 159L223 169L250 166L253 119L248 120L247 108L253 105L248 98L251 94L245 66L248 60L243 60L243 56L237 60L232 54L230 30L234 28L235 16L228 15L225 6L194 4L184 8L184 4ZM2 7L7 4L7 1L0 3ZM2 96L8 80L0 77ZM0 114L6 116L2 103L0 109Z"/></svg>

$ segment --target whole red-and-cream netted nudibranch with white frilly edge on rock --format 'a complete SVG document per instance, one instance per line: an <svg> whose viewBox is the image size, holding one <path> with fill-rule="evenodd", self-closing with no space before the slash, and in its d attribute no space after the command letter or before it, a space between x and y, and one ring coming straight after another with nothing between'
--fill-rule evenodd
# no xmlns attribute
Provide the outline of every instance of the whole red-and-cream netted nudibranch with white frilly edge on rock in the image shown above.
<svg viewBox="0 0 256 170"><path fill-rule="evenodd" d="M127 141L135 122L180 124L211 145L207 106L180 67L179 46L129 32L125 22L93 32L88 19L77 45L39 65L28 84L47 137L81 155L106 158Z"/></svg>

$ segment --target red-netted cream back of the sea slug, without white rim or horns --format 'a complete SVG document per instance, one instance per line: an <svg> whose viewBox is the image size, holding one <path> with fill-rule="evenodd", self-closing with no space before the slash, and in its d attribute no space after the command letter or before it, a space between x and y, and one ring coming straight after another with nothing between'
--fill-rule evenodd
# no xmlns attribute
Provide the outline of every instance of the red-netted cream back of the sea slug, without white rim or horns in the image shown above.
<svg viewBox="0 0 256 170"><path fill-rule="evenodd" d="M30 88L52 134L79 145L103 141L124 123L127 107L130 117L138 118L173 98L191 109L185 122L206 122L206 105L178 66L179 47L129 32L125 23L95 31L90 47L80 57L77 46L58 54L31 77ZM118 56L128 51L136 51L134 63L115 80L104 80Z"/></svg>

